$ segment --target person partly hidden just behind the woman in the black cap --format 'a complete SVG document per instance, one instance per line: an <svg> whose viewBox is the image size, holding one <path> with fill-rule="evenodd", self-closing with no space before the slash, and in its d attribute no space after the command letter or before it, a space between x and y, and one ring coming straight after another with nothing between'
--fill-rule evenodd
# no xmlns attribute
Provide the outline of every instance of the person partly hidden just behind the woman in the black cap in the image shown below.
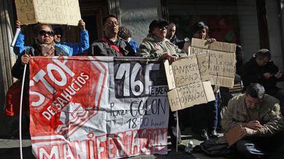
<svg viewBox="0 0 284 159"><path fill-rule="evenodd" d="M179 40L176 37L176 24L175 23L169 23L169 26L167 27L167 39L178 46L178 48L182 49L183 44L185 44L185 40Z"/></svg>

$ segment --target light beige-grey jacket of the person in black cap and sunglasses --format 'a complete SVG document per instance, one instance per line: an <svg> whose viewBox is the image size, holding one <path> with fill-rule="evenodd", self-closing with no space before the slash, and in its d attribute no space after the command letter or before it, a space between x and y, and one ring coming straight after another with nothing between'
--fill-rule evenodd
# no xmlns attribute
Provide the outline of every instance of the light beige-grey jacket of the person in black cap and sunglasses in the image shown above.
<svg viewBox="0 0 284 159"><path fill-rule="evenodd" d="M170 53L176 57L187 56L185 51L180 50L178 46L171 43L166 38L161 39L154 35L143 39L139 46L137 55L155 59L161 57L163 53Z"/></svg>

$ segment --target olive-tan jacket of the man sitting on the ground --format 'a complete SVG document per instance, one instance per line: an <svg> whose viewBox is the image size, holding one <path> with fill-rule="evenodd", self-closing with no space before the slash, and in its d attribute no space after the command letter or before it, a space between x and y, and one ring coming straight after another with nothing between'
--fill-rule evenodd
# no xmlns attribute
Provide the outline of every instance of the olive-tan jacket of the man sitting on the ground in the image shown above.
<svg viewBox="0 0 284 159"><path fill-rule="evenodd" d="M245 94L241 94L228 102L228 108L221 121L225 132L237 124L241 124L241 126L245 127L246 123L250 121L247 112L248 108L245 104L245 96ZM254 136L272 136L284 129L279 100L268 94L265 94L263 102L259 105L259 118L261 119L259 122L263 127L260 132Z"/></svg>

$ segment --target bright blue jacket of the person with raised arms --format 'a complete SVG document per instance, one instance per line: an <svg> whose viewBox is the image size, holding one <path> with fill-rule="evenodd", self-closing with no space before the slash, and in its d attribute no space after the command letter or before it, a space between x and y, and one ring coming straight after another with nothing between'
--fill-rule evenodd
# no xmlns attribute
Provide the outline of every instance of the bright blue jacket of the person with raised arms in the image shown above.
<svg viewBox="0 0 284 159"><path fill-rule="evenodd" d="M16 39L16 43L14 46L14 53L16 55L23 54L24 50L30 48L31 46L24 46L25 42L25 35L23 33L19 33L18 38ZM80 32L80 44L78 43L56 43L56 46L64 50L64 52L68 53L68 56L78 55L83 53L85 50L88 49L89 42L88 42L88 31L84 30Z"/></svg>

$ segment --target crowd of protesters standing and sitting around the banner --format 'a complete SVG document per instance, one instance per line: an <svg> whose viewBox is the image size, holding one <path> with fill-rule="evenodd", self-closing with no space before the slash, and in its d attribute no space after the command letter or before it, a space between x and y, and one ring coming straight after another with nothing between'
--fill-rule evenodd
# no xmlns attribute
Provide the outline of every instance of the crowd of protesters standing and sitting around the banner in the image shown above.
<svg viewBox="0 0 284 159"><path fill-rule="evenodd" d="M16 27L21 28L21 23L16 22ZM14 53L18 59L12 68L15 78L23 78L23 66L29 63L31 56L74 56L88 52L91 56L112 57L147 57L151 59L167 59L173 63L180 57L188 55L191 40L178 40L176 25L163 19L153 20L149 25L147 37L140 46L132 40L132 34L126 27L119 27L116 16L109 15L103 20L104 38L93 42L89 46L88 31L83 20L78 23L80 28L80 42L61 42L62 29L53 28L51 25L38 24L34 28L34 44L25 46L25 35L19 34L14 46ZM204 22L195 23L191 27L191 38L216 42L209 37L209 27ZM238 46L241 49L241 46ZM235 148L244 158L263 158L268 152L276 151L283 147L283 116L284 89L276 87L276 83L284 81L283 72L271 61L268 49L261 49L254 57L242 66L240 55L237 59L237 73L244 82L245 93L230 101L221 124L224 132L228 132L237 124L241 124L241 136ZM27 65L28 67L28 65ZM29 78L27 69L26 79ZM199 104L185 110L191 114L191 126L194 132L200 134L202 139L218 138L216 132L218 122L218 105L220 103L220 89L212 85L216 100L206 104ZM222 89L221 89L222 90ZM28 104L29 85L24 87L24 103ZM171 145L183 145L180 134L177 134L177 113L169 112L169 134ZM176 145L178 139L178 145ZM221 138L220 138L221 139ZM271 145L275 141L274 146ZM181 147L181 146L180 146ZM282 148L283 149L283 148Z"/></svg>

